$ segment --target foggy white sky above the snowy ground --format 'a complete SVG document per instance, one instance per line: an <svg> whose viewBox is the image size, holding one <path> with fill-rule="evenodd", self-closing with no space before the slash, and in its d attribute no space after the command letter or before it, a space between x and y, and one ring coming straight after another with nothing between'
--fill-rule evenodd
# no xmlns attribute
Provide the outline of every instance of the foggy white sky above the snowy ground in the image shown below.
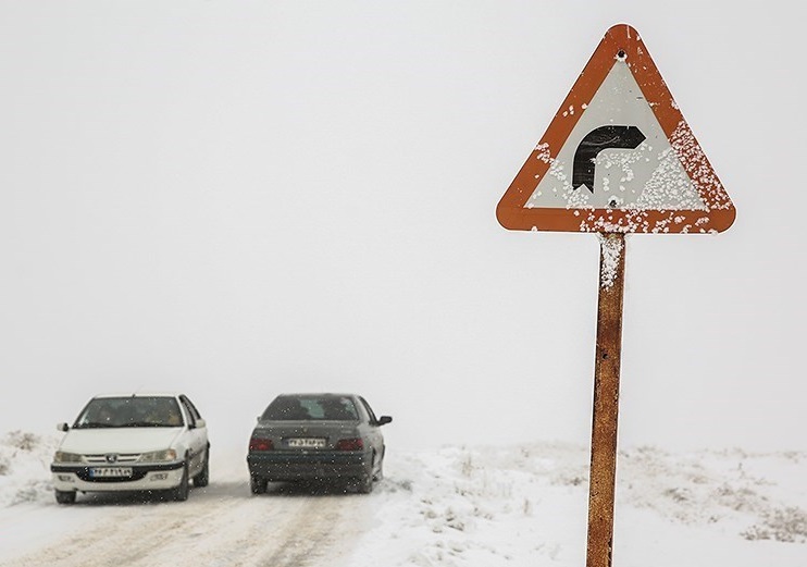
<svg viewBox="0 0 807 567"><path fill-rule="evenodd" d="M388 444L588 442L598 241L495 208L608 27L732 197L629 237L620 443L807 448L807 9L0 3L0 430L182 390L244 443L283 391Z"/></svg>

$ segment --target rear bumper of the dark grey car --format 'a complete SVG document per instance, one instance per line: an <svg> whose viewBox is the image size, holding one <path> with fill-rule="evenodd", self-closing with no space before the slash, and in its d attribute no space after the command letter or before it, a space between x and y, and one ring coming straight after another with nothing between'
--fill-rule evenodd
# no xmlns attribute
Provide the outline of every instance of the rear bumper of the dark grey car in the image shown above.
<svg viewBox="0 0 807 567"><path fill-rule="evenodd" d="M249 473L271 482L357 479L370 474L371 454L344 451L266 451L247 455Z"/></svg>

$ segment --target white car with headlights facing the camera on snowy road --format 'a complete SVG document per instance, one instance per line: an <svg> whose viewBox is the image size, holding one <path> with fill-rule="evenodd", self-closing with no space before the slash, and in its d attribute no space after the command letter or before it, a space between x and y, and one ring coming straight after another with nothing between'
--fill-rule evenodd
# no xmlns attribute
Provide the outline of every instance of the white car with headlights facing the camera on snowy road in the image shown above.
<svg viewBox="0 0 807 567"><path fill-rule="evenodd" d="M90 399L62 439L50 466L59 504L78 492L170 491L188 497L206 486L210 443L204 420L183 394L107 394Z"/></svg>

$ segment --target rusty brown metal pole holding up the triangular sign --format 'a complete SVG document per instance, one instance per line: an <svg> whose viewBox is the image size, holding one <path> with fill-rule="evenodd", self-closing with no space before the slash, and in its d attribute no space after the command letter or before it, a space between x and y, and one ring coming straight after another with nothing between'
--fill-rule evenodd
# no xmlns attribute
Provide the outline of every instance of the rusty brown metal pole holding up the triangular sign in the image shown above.
<svg viewBox="0 0 807 567"><path fill-rule="evenodd" d="M617 418L622 355L624 234L600 234L597 350L594 365L592 463L588 483L586 567L611 567Z"/></svg>

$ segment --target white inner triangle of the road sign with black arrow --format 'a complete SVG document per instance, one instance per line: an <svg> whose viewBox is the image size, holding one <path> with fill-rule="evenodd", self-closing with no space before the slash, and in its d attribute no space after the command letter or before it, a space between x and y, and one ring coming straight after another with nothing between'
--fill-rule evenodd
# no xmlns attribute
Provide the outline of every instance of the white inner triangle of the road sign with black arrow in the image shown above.
<svg viewBox="0 0 807 567"><path fill-rule="evenodd" d="M583 107L525 207L708 210L624 61Z"/></svg>

